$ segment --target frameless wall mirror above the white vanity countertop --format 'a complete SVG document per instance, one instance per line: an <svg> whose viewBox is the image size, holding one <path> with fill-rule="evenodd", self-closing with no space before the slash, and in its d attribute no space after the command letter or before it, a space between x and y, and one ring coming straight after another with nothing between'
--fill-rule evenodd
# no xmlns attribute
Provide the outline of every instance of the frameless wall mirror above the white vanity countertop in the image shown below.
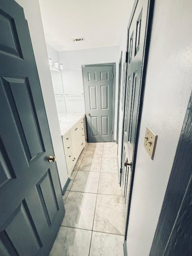
<svg viewBox="0 0 192 256"><path fill-rule="evenodd" d="M57 107L57 113L58 113L58 116L60 117L67 113L61 72L51 69L51 78L52 78L52 83L53 83L53 90L54 90L55 102L56 102L56 107Z"/></svg>

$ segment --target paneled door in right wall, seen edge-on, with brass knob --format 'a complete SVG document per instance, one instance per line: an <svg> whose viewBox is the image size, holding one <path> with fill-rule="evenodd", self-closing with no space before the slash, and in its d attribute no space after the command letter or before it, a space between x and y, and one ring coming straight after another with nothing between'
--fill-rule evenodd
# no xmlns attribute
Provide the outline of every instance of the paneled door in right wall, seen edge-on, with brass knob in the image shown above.
<svg viewBox="0 0 192 256"><path fill-rule="evenodd" d="M127 209L130 200L132 160L140 101L141 72L147 23L148 0L138 0L128 26L127 74L125 86L125 110L123 121L123 158L121 187ZM130 165L128 165L128 162ZM125 165L125 166L124 166Z"/></svg>

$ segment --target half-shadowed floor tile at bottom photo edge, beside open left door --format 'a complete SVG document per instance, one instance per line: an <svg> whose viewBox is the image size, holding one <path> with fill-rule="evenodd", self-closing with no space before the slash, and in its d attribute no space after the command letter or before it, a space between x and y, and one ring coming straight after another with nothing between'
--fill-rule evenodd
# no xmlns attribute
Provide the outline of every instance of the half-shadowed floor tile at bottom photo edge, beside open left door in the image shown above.
<svg viewBox="0 0 192 256"><path fill-rule="evenodd" d="M91 231L60 227L50 256L88 256Z"/></svg>

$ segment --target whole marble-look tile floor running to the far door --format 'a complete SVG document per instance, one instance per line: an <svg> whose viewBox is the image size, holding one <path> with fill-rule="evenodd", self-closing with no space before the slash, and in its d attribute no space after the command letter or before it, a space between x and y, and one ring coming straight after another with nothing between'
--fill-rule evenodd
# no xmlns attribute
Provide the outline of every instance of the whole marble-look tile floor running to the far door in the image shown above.
<svg viewBox="0 0 192 256"><path fill-rule="evenodd" d="M65 217L50 256L123 256L124 203L117 144L86 144L63 203Z"/></svg>

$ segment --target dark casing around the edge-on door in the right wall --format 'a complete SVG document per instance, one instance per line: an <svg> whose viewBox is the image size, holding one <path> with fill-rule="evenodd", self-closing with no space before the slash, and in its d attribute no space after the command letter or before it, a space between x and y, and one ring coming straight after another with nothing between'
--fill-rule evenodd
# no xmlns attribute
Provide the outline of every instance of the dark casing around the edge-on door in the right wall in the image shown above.
<svg viewBox="0 0 192 256"><path fill-rule="evenodd" d="M127 39L126 39L127 43L128 43L128 38L129 38L128 30L129 30L129 26L131 24L133 15L135 13L137 2L138 2L138 0L134 1L132 12L131 12L130 19L129 19L129 23L128 23L128 26L127 26ZM143 107L143 96L144 96L144 89L145 89L145 76L146 76L146 70L147 70L148 52L149 52L149 46L150 46L151 24L152 24L152 18L153 18L153 7L154 7L154 0L148 0L147 23L146 23L146 33L145 33L144 50L143 50L143 63L142 63L142 71L141 71L141 85L140 85L138 116L137 116L136 133L135 133L135 145L134 145L134 149L133 149L133 159L132 159L132 174L131 174L131 182L130 182L128 207L127 207L127 209L125 209L126 212L127 212L126 213L127 216L126 216L126 225L125 225L125 242L124 242L124 245L123 245L124 255L127 255L126 239L127 239L127 230L128 230L128 224L129 224L129 214L130 214L131 197L132 197L133 184L134 184L134 173L135 173L135 164L136 164L136 156L137 156L137 146L138 146L141 115L142 115L142 107ZM127 52L128 52L128 44L127 44ZM126 67L126 69L127 69L127 67ZM124 120L124 115L125 115L125 97L124 97L123 120ZM123 121L122 128L123 127L124 127L124 121ZM123 155L123 143L122 143L122 148L121 148L121 166L122 166L122 161L123 161L122 155ZM120 173L121 173L121 169L120 169ZM121 177L120 177L120 180L121 180Z"/></svg>

